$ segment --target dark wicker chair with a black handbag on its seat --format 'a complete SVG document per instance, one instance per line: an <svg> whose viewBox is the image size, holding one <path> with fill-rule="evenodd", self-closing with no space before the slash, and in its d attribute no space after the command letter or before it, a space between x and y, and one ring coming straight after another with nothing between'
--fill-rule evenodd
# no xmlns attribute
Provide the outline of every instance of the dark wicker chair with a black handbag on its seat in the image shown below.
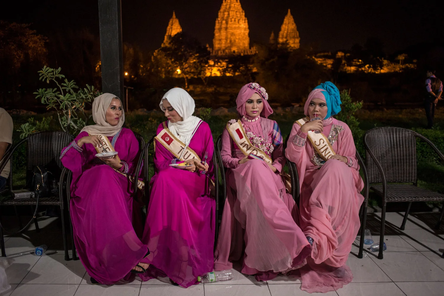
<svg viewBox="0 0 444 296"><path fill-rule="evenodd" d="M55 162L60 170L63 170L63 165L59 160L61 150L63 147L68 146L69 143L74 139L74 136L68 134L63 131L44 131L36 134L31 134L27 138L24 138L20 141L16 146L14 146L8 155L6 160L11 158L12 153L23 143L27 143L26 149L26 169L27 176L31 176L32 168L34 166L44 166L50 162ZM12 170L9 175L10 184L9 190L12 190ZM66 187L66 184L63 180L63 174L60 175L59 178L59 194L58 196L49 196L49 197L40 197L39 205L58 205L60 207L61 212L61 221L62 221L62 234L63 234L63 246L65 251L65 260L69 260L68 249L67 249L67 239L65 233L65 216L64 216L64 196L63 196L63 187ZM36 198L24 199L24 200L15 200L9 199L1 202L0 205L36 205ZM37 224L36 218L34 218L34 223L36 225L36 230L39 231L39 225ZM4 237L3 232L0 230L1 235L1 251L2 256L6 256L6 252L4 249Z"/></svg>

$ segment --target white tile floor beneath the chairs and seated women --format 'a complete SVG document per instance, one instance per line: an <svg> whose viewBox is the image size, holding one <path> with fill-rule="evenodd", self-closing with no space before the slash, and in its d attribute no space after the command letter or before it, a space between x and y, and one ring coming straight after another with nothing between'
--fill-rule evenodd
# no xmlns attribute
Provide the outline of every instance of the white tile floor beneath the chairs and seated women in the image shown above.
<svg viewBox="0 0 444 296"><path fill-rule="evenodd" d="M368 225L372 225L374 230L378 220L370 216ZM399 213L387 213L386 219L388 225L392 223L400 226L402 222ZM144 283L133 280L112 286L91 285L89 276L79 260L64 260L57 220L42 219L39 225L42 228L41 233L35 233L35 230L31 229L22 237L5 237L6 253L8 257L14 258L14 263L6 269L11 289L0 296L309 295L300 289L300 280L278 276L268 282L256 282L253 276L245 276L238 271L234 271L234 279L231 281L200 284L187 289L172 286L167 278ZM436 232L431 225L409 216L404 231L396 227L388 229L386 226L388 234L385 236L385 242L388 249L383 260L377 259L374 253L365 253L364 258L358 259L357 247L353 246L347 261L353 271L352 283L325 295L444 295L444 258L436 252L444 248L444 235L442 231ZM441 229L444 229L444 225ZM377 240L377 235L374 235L373 239ZM57 252L43 257L30 255L29 251L33 245L40 243L46 243L51 250Z"/></svg>

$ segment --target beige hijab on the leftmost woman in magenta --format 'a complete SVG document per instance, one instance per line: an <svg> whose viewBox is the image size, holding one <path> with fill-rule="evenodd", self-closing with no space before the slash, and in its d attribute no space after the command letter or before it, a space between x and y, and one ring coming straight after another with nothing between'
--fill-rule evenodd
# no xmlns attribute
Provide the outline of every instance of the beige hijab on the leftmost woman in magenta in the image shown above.
<svg viewBox="0 0 444 296"><path fill-rule="evenodd" d="M119 124L116 126L111 126L107 122L106 114L108 107L110 107L112 99L119 99L116 95L105 93L102 95L99 95L97 98L94 99L94 102L92 103L92 120L94 120L94 125L91 126L85 126L80 131L86 131L88 134L103 134L107 137L112 137L122 128L123 122L125 122L125 113L123 113L122 109L122 117L119 120ZM120 101L120 99L119 99ZM122 101L120 101L122 104Z"/></svg>

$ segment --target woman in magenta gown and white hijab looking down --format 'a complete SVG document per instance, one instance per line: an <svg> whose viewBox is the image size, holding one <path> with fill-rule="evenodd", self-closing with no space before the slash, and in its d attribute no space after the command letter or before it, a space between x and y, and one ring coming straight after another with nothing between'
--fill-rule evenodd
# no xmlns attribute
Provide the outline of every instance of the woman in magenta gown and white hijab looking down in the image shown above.
<svg viewBox="0 0 444 296"><path fill-rule="evenodd" d="M155 137L155 175L142 238L151 255L140 264L150 265L139 276L168 276L186 288L213 271L213 137L208 124L192 115L194 100L182 88L168 91L160 108L167 120Z"/></svg>

